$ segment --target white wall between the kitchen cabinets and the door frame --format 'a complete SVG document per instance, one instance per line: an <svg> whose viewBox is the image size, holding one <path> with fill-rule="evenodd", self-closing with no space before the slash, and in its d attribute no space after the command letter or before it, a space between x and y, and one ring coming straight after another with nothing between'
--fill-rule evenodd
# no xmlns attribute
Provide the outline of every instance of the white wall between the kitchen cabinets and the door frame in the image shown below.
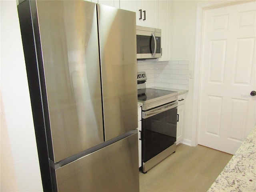
<svg viewBox="0 0 256 192"><path fill-rule="evenodd" d="M171 4L171 60L189 60L190 70L194 70L195 37L196 37L196 11L197 4L204 1L179 1ZM193 79L189 78L188 94L186 96L184 140L191 144Z"/></svg>

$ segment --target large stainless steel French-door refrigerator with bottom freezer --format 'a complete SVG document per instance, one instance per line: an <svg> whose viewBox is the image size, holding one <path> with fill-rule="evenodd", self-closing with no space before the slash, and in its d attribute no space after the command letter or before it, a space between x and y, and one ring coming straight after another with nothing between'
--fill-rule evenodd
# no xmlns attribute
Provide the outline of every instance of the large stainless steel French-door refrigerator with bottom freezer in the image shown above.
<svg viewBox="0 0 256 192"><path fill-rule="evenodd" d="M44 191L139 191L135 13L18 5Z"/></svg>

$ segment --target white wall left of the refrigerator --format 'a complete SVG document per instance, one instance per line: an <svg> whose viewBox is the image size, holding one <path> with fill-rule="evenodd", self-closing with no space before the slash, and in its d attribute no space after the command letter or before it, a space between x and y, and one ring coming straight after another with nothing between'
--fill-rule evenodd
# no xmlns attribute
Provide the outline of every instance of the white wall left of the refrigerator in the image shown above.
<svg viewBox="0 0 256 192"><path fill-rule="evenodd" d="M0 0L1 191L43 191L15 0Z"/></svg>

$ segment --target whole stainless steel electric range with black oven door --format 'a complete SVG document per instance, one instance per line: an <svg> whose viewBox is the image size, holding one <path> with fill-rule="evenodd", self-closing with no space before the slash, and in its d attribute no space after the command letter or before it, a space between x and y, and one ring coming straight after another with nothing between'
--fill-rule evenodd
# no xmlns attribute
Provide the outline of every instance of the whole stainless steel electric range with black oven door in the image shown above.
<svg viewBox="0 0 256 192"><path fill-rule="evenodd" d="M178 93L146 88L145 72L138 72L138 102L142 103L142 166L150 168L176 151Z"/></svg>

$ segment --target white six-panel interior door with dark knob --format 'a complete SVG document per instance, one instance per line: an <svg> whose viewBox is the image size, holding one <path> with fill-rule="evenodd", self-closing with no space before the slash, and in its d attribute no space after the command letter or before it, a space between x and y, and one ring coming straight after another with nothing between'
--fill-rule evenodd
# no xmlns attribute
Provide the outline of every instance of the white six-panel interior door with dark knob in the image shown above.
<svg viewBox="0 0 256 192"><path fill-rule="evenodd" d="M256 124L255 8L204 11L198 144L230 154Z"/></svg>

